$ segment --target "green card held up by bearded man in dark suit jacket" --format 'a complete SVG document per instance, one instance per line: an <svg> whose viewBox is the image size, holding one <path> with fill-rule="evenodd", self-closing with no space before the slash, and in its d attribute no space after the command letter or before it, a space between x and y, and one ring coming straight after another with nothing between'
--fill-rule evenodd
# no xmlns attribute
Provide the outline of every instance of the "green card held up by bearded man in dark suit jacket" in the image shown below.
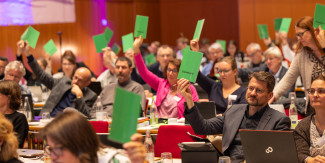
<svg viewBox="0 0 325 163"><path fill-rule="evenodd" d="M184 78L190 82L196 82L196 77L199 73L202 57L203 53L190 50L185 51L177 79Z"/></svg>

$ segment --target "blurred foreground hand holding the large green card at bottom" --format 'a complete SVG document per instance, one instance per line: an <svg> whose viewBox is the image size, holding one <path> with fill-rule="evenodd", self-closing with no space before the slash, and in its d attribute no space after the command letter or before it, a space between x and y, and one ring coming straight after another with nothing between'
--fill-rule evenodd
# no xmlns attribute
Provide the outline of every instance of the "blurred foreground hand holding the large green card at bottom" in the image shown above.
<svg viewBox="0 0 325 163"><path fill-rule="evenodd" d="M132 163L143 163L146 158L146 148L142 144L142 135L136 133L132 135L131 142L123 144Z"/></svg>

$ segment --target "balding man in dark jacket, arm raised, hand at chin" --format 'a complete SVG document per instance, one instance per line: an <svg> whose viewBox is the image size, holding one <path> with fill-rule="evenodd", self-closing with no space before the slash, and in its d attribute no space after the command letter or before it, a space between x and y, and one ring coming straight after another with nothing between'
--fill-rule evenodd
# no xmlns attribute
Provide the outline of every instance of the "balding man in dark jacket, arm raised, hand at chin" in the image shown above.
<svg viewBox="0 0 325 163"><path fill-rule="evenodd" d="M37 79L51 90L51 94L41 114L50 112L50 115L54 117L65 108L73 107L90 117L90 109L97 99L97 95L87 88L91 79L89 69L85 67L78 68L72 77L72 81L66 76L61 79L54 79L40 67L33 55L29 53L28 42L25 46L23 41L19 41L18 44L18 48L21 48L21 51L27 56L28 64L37 76Z"/></svg>

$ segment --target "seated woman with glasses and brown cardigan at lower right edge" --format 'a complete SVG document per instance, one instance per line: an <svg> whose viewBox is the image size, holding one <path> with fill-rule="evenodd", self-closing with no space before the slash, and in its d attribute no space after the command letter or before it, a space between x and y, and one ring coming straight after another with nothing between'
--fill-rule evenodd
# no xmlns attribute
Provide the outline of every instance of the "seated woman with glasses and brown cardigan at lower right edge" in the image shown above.
<svg viewBox="0 0 325 163"><path fill-rule="evenodd" d="M301 120L294 131L298 159L325 163L325 76L316 78L307 92L315 113Z"/></svg>

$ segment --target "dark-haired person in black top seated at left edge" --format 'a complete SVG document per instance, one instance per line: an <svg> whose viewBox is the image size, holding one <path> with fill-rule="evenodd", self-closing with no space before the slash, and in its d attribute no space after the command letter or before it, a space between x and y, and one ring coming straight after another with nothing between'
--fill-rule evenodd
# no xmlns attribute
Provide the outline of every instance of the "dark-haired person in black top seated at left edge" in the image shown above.
<svg viewBox="0 0 325 163"><path fill-rule="evenodd" d="M13 81L0 81L0 113L11 121L17 133L19 148L23 148L28 134L26 116L17 112L21 105L19 85Z"/></svg>

